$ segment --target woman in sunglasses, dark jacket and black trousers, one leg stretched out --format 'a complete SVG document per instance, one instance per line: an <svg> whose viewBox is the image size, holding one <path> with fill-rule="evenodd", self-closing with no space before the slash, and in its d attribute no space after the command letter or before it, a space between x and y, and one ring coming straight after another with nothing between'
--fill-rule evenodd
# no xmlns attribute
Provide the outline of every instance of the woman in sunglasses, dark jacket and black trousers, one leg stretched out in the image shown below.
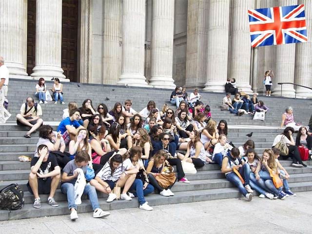
<svg viewBox="0 0 312 234"><path fill-rule="evenodd" d="M167 152L167 161L170 165L176 165L177 179L179 182L190 183L190 181L185 177L183 172L181 160L176 158L176 143L170 142L170 136L168 133L161 133L159 135L160 141L155 142L153 144L153 152L154 156L158 150L164 150ZM169 143L170 142L170 143Z"/></svg>

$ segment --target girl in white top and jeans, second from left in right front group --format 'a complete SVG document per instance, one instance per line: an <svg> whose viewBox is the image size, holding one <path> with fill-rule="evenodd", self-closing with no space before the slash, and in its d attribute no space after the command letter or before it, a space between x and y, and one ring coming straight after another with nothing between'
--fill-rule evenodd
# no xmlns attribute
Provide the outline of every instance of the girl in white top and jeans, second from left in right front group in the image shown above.
<svg viewBox="0 0 312 234"><path fill-rule="evenodd" d="M268 197L269 199L273 199L274 195L268 193L267 191L265 191L264 189L262 189L258 183L257 180L254 176L254 172L257 169L257 166L260 162L260 158L257 155L257 153L254 151L253 148L250 148L246 151L246 154L244 157L242 157L242 164L244 165L244 163L247 163L250 167L250 186L252 187L252 189L254 189L255 191L257 191L260 195L260 198L264 198L264 197Z"/></svg>

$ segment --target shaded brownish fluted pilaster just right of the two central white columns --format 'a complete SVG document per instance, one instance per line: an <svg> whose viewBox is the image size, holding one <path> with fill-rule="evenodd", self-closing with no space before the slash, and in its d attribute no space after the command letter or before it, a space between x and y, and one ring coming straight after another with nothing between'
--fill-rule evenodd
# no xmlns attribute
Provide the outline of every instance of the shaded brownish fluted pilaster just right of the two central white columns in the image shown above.
<svg viewBox="0 0 312 234"><path fill-rule="evenodd" d="M207 77L208 0L189 0L186 39L186 77L188 88L203 88Z"/></svg>

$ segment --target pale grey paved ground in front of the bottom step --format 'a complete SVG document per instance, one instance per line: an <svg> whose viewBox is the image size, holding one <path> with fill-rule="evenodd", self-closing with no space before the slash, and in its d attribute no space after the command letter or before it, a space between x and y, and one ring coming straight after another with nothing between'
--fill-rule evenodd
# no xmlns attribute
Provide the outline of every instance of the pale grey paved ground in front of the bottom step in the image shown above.
<svg viewBox="0 0 312 234"><path fill-rule="evenodd" d="M154 211L115 210L0 222L1 234L311 234L312 192L285 200L254 197L155 206ZM147 197L148 200L148 197ZM36 212L34 210L34 212Z"/></svg>

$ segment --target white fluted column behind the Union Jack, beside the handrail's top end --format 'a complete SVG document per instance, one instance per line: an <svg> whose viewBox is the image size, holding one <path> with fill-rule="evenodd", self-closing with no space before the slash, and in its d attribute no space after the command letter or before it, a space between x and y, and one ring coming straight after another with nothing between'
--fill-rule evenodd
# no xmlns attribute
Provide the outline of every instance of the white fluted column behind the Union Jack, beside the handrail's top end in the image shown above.
<svg viewBox="0 0 312 234"><path fill-rule="evenodd" d="M296 5L297 0L277 0L278 6ZM295 65L296 44L285 44L275 46L275 70L272 95L281 94L281 86L278 82L294 82L294 65ZM294 88L292 84L284 84L282 87L282 96L294 97Z"/></svg>

